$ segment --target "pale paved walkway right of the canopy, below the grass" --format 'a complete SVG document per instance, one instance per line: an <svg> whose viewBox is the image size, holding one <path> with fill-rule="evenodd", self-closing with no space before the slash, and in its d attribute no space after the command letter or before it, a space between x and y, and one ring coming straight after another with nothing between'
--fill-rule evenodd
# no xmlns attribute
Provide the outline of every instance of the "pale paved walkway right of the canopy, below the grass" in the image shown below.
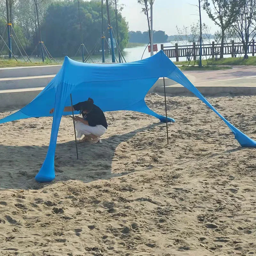
<svg viewBox="0 0 256 256"><path fill-rule="evenodd" d="M235 66L233 69L184 71L195 86L256 87L256 66Z"/></svg>

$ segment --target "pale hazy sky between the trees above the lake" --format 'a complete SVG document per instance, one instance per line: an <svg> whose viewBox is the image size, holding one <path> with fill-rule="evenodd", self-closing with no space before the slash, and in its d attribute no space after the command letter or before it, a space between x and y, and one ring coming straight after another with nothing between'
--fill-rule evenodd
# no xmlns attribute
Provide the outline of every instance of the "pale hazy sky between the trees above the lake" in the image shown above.
<svg viewBox="0 0 256 256"><path fill-rule="evenodd" d="M137 0L119 0L120 4L125 4L122 11L126 21L129 22L129 30L146 31L148 23L146 15L141 13L142 6ZM199 20L198 8L191 4L198 4L198 0L155 0L153 4L153 29L164 30L167 35L177 34L176 25L182 27L189 26ZM202 22L211 27L213 34L218 27L208 18L202 8Z"/></svg>

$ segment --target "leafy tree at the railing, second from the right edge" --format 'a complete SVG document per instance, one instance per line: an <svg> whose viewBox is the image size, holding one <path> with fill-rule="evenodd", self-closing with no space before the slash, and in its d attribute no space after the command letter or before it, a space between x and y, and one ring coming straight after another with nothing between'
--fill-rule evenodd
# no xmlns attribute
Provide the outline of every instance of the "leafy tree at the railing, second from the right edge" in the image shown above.
<svg viewBox="0 0 256 256"><path fill-rule="evenodd" d="M239 12L239 4L237 0L211 0L211 2L212 5L209 3L209 0L204 0L203 8L209 18L220 27L220 58L223 58L225 31L235 22Z"/></svg>

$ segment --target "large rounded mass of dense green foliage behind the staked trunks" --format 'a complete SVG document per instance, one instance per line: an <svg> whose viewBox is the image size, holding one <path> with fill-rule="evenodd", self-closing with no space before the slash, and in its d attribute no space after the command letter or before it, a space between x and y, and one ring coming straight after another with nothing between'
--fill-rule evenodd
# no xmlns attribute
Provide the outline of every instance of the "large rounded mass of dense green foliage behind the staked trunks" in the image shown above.
<svg viewBox="0 0 256 256"><path fill-rule="evenodd" d="M110 6L110 19L116 33L115 11ZM83 42L88 51L101 37L101 1L80 2L80 18L82 25ZM123 49L128 43L128 24L118 13L118 26L120 48ZM104 8L104 28L108 40L107 13ZM49 6L44 22L41 26L42 38L49 52L54 56L74 56L81 44L80 23L78 17L78 3L76 1L56 2ZM116 35L117 36L117 35ZM96 52L101 49L99 43ZM106 44L107 49L107 44ZM80 53L81 54L81 53Z"/></svg>

